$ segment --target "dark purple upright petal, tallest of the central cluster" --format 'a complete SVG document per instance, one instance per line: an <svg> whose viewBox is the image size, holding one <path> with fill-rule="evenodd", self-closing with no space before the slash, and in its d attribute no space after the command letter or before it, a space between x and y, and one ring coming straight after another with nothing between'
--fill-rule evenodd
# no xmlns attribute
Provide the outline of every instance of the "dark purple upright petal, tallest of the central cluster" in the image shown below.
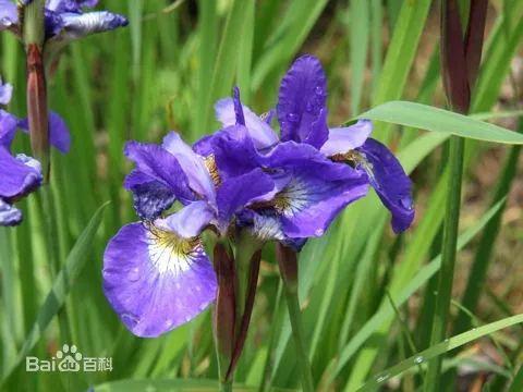
<svg viewBox="0 0 523 392"><path fill-rule="evenodd" d="M277 106L281 139L320 148L328 138L327 78L313 56L299 58L281 81Z"/></svg>

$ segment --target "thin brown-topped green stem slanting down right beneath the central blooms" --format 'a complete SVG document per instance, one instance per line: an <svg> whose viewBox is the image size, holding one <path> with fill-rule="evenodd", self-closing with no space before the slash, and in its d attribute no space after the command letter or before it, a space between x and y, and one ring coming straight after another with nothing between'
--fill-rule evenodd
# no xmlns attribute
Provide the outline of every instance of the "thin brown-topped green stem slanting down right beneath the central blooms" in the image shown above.
<svg viewBox="0 0 523 392"><path fill-rule="evenodd" d="M304 392L314 391L313 372L308 360L308 351L305 346L302 311L297 296L297 257L296 253L282 244L277 248L278 262L280 265L283 290L285 292L287 307L291 320L292 338L296 351L296 363L302 376Z"/></svg>

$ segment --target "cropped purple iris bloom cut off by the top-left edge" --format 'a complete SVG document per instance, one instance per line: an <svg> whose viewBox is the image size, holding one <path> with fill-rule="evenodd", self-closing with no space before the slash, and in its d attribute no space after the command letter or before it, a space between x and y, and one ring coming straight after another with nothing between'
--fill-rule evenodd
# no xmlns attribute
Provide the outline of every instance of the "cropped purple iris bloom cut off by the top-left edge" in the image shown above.
<svg viewBox="0 0 523 392"><path fill-rule="evenodd" d="M25 0L27 5L32 0ZM98 0L47 0L46 38L53 41L70 41L89 34L111 30L127 25L127 20L108 11L84 12L96 7ZM19 23L16 5L11 0L0 0L0 29Z"/></svg>

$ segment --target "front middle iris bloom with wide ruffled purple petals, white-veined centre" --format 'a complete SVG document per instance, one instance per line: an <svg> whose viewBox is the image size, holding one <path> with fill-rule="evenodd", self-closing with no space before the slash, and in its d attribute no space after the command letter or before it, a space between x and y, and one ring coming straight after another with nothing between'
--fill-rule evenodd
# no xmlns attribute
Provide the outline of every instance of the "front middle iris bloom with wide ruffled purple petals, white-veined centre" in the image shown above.
<svg viewBox="0 0 523 392"><path fill-rule="evenodd" d="M306 238L324 235L344 207L366 195L365 173L332 162L313 146L291 140L259 150L251 135L252 128L234 125L195 147L211 151L224 177L260 168L271 176L275 196L238 213L238 223L259 240L278 240L299 250Z"/></svg>

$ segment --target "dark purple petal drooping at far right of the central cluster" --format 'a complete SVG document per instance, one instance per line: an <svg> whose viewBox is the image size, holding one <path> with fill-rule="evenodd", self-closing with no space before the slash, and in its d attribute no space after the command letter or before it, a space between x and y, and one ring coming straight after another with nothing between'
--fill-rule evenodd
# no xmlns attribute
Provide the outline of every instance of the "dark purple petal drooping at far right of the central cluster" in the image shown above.
<svg viewBox="0 0 523 392"><path fill-rule="evenodd" d="M409 229L414 220L412 182L398 159L381 143L368 138L357 148L367 164L363 166L384 205L392 213L392 229L400 233Z"/></svg>

